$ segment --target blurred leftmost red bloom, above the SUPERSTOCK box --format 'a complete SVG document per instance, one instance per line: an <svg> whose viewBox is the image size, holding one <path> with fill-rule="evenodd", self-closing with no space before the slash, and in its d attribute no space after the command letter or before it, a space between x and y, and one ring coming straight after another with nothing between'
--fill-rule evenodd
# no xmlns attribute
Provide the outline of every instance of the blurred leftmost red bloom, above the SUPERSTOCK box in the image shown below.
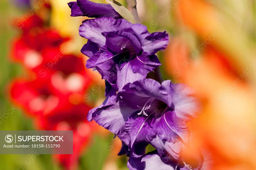
<svg viewBox="0 0 256 170"><path fill-rule="evenodd" d="M10 87L13 102L30 115L44 115L66 105L67 99L45 79L17 79Z"/></svg>

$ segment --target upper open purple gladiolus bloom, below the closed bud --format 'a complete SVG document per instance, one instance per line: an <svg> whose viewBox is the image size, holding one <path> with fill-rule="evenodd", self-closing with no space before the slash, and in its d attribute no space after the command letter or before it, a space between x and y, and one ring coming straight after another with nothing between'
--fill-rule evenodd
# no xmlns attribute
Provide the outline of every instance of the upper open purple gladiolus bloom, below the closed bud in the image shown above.
<svg viewBox="0 0 256 170"><path fill-rule="evenodd" d="M126 83L145 79L161 65L155 54L169 41L166 32L151 34L142 24L112 17L84 20L79 34L90 40L81 49L85 55L90 53L86 67L96 68L103 79L117 84L119 91Z"/></svg>

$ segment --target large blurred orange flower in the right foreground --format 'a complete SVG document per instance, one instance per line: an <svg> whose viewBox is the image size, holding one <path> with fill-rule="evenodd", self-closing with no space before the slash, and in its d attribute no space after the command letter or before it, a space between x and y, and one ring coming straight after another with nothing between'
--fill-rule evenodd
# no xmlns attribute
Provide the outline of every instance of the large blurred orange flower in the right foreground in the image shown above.
<svg viewBox="0 0 256 170"><path fill-rule="evenodd" d="M193 157L195 150L207 150L214 170L256 169L253 49L245 52L251 53L247 58L237 58L235 43L227 43L237 37L220 37L229 28L218 24L218 11L206 2L183 0L176 14L201 43L194 48L184 36L175 37L164 62L169 75L194 88L202 103L199 118L189 123L195 134L191 143L185 143L186 154ZM218 36L209 38L214 30Z"/></svg>

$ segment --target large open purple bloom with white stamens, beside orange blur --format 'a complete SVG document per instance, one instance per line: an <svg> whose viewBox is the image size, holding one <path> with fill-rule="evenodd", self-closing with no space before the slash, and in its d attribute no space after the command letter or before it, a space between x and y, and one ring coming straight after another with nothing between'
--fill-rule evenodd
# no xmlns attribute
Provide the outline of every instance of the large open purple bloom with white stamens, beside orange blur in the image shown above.
<svg viewBox="0 0 256 170"><path fill-rule="evenodd" d="M93 120L117 134L131 149L131 155L145 154L153 145L160 156L167 153L178 159L177 142L188 134L186 121L195 116L197 101L184 84L143 79L126 84L102 107L94 110Z"/></svg>

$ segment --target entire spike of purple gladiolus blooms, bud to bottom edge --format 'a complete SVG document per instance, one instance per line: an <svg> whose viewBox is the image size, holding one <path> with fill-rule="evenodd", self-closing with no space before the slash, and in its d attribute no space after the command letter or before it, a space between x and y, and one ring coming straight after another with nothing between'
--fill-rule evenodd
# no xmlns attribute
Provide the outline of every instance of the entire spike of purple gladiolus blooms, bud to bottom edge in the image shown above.
<svg viewBox="0 0 256 170"><path fill-rule="evenodd" d="M149 33L146 26L123 19L110 4L77 0L68 5L71 16L95 18L79 27L79 35L88 39L81 53L89 57L86 67L105 79L106 99L88 112L88 121L121 139L118 155L130 157L130 170L208 169L210 159L201 152L193 155L195 162L180 156L189 134L186 123L198 111L193 90L170 80L160 84L146 79L161 65L155 54L167 47L168 34ZM156 150L146 154L149 144Z"/></svg>

